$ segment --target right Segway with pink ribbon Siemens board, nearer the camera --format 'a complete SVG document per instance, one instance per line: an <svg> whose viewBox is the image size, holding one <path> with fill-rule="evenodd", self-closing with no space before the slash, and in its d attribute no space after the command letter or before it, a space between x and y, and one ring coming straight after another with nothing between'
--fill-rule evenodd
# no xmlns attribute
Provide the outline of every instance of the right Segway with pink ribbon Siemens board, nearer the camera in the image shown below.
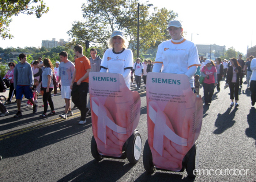
<svg viewBox="0 0 256 182"><path fill-rule="evenodd" d="M143 150L143 165L148 173L155 169L183 172L195 177L198 169L198 144L203 120L203 101L195 95L188 76L147 74L148 139Z"/></svg>

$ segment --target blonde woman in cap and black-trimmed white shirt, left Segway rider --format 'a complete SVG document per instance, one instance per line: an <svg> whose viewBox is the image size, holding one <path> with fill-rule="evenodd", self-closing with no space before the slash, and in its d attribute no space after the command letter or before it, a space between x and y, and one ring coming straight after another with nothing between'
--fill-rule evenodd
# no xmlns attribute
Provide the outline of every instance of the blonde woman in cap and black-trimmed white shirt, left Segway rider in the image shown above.
<svg viewBox="0 0 256 182"><path fill-rule="evenodd" d="M127 49L129 42L122 31L114 31L109 39L109 49L103 55L101 71L119 73L124 76L125 83L131 89L131 69L133 66L133 54Z"/></svg>

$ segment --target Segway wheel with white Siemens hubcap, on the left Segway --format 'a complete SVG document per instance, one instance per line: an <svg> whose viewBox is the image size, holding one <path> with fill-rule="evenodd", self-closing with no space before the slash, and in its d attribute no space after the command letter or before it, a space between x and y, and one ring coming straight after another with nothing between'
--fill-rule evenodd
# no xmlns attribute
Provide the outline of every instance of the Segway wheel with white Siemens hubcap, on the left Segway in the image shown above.
<svg viewBox="0 0 256 182"><path fill-rule="evenodd" d="M142 141L138 131L133 132L129 138L126 149L126 157L129 163L136 164L140 159Z"/></svg>

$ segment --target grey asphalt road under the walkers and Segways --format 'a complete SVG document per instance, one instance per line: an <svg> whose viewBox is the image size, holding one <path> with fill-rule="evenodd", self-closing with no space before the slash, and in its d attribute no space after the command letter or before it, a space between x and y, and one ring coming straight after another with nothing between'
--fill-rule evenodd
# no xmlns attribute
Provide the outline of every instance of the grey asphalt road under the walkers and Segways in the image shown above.
<svg viewBox="0 0 256 182"><path fill-rule="evenodd" d="M245 80L245 78L244 78ZM127 159L104 158L97 162L91 155L91 117L78 125L79 110L67 120L59 118L64 111L60 93L53 97L56 115L39 117L43 108L32 114L22 102L23 116L13 118L15 104L7 105L10 114L0 118L0 181L1 182L253 182L256 181L256 109L251 106L250 91L244 84L239 90L239 107L230 107L229 88L216 92L209 106L203 106L203 124L198 139L199 169L211 170L209 175L187 177L183 173L159 171L147 174L142 155L136 165ZM134 88L132 89L134 90ZM147 139L146 92L141 95L138 130L142 145ZM200 89L200 94L203 89ZM202 94L203 95L203 94ZM42 106L42 99L39 99ZM73 106L74 104L72 104ZM49 109L50 111L50 109ZM232 171L236 169L236 174ZM220 174L222 170L222 175ZM244 172L246 171L246 173Z"/></svg>

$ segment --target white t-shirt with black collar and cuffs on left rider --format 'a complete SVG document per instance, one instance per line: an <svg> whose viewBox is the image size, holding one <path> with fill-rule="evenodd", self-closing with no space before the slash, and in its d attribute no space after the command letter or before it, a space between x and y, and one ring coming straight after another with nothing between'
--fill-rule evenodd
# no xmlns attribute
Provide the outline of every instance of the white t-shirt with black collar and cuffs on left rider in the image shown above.
<svg viewBox="0 0 256 182"><path fill-rule="evenodd" d="M132 69L133 64L133 54L130 49L124 49L121 52L114 53L113 48L109 48L103 55L101 61L101 67L108 69L109 73L119 73L124 74L124 70ZM130 88L131 83L131 72L124 78L124 81L128 88Z"/></svg>

